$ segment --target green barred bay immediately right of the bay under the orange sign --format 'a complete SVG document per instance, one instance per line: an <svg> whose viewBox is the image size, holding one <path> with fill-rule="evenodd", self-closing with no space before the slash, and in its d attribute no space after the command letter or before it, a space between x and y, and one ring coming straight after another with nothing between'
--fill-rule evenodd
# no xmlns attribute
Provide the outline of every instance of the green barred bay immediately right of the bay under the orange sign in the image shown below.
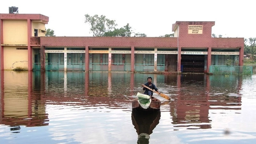
<svg viewBox="0 0 256 144"><path fill-rule="evenodd" d="M112 54L111 71L131 71L131 54Z"/></svg>

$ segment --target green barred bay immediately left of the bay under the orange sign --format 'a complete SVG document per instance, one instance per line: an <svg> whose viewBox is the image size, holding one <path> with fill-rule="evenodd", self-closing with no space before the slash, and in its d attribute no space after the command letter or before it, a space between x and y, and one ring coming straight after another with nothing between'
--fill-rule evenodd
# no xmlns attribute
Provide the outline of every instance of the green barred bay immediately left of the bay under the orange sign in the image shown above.
<svg viewBox="0 0 256 144"><path fill-rule="evenodd" d="M85 54L67 53L67 70L85 71Z"/></svg>

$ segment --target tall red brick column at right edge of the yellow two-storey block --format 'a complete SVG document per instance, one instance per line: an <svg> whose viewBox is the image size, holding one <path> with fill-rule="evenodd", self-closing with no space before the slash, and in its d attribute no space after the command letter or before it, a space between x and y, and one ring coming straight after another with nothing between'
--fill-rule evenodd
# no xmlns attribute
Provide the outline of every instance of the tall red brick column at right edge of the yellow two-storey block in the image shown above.
<svg viewBox="0 0 256 144"><path fill-rule="evenodd" d="M30 37L32 37L32 20L28 19L28 71L32 70L32 47L30 46Z"/></svg>

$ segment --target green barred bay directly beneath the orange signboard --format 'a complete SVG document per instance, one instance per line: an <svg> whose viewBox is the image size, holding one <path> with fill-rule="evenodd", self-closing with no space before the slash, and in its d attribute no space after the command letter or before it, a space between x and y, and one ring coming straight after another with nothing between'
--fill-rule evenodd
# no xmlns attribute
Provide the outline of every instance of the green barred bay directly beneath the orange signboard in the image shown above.
<svg viewBox="0 0 256 144"><path fill-rule="evenodd" d="M90 53L89 70L108 71L108 53Z"/></svg>

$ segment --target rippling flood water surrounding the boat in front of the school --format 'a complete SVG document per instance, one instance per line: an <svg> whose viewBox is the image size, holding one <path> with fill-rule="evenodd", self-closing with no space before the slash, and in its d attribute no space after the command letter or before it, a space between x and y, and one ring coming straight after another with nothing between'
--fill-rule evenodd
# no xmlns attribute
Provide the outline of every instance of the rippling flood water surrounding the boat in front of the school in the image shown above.
<svg viewBox="0 0 256 144"><path fill-rule="evenodd" d="M161 111L132 111L151 76ZM255 143L256 75L1 72L0 143ZM150 137L150 139L148 139Z"/></svg>

